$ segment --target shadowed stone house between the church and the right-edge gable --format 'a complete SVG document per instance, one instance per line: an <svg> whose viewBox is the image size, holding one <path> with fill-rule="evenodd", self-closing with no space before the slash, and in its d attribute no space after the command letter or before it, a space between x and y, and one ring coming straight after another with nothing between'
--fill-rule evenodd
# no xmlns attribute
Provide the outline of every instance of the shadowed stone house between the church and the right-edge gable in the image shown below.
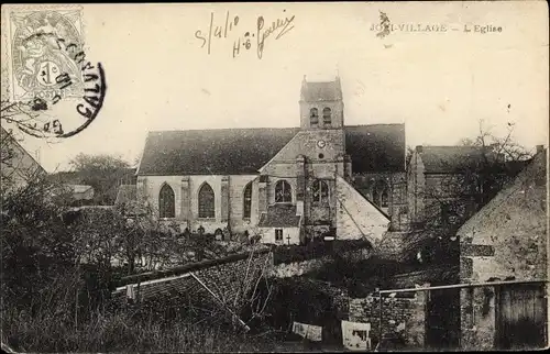
<svg viewBox="0 0 550 354"><path fill-rule="evenodd" d="M453 234L526 162L505 162L492 146L417 146L407 168L409 230Z"/></svg>

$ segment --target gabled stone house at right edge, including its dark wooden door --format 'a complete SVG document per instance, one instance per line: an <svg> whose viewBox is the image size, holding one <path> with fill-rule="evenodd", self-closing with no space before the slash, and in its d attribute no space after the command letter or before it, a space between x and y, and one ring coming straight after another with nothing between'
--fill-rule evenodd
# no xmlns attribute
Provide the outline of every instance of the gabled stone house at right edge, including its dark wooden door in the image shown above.
<svg viewBox="0 0 550 354"><path fill-rule="evenodd" d="M548 279L547 151L458 231L461 283L541 281L461 290L462 347L543 347Z"/></svg>

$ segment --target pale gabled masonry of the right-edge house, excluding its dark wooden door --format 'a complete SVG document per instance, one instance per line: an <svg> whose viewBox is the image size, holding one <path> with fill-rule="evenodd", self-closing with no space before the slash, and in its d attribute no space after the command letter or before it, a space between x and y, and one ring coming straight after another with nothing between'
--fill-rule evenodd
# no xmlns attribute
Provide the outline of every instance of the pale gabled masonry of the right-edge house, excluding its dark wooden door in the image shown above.
<svg viewBox="0 0 550 354"><path fill-rule="evenodd" d="M547 279L546 163L537 155L459 230L461 283ZM494 287L461 290L464 349L494 349L495 311Z"/></svg>

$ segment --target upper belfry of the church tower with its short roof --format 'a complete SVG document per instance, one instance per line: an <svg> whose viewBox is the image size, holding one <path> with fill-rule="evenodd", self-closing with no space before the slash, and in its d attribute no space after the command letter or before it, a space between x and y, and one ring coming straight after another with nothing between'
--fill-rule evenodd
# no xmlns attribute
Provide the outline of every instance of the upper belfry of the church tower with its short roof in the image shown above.
<svg viewBox="0 0 550 354"><path fill-rule="evenodd" d="M343 126L343 99L340 77L333 81L301 80L301 129L341 129Z"/></svg>

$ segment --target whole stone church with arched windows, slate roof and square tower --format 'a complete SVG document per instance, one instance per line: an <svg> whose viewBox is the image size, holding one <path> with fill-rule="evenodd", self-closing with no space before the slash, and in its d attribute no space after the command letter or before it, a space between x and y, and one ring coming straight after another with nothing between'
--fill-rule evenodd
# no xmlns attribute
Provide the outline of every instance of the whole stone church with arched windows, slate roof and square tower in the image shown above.
<svg viewBox="0 0 550 354"><path fill-rule="evenodd" d="M182 231L227 230L270 244L374 243L399 231L405 125L345 125L339 77L304 77L297 111L299 128L150 132L136 198Z"/></svg>

